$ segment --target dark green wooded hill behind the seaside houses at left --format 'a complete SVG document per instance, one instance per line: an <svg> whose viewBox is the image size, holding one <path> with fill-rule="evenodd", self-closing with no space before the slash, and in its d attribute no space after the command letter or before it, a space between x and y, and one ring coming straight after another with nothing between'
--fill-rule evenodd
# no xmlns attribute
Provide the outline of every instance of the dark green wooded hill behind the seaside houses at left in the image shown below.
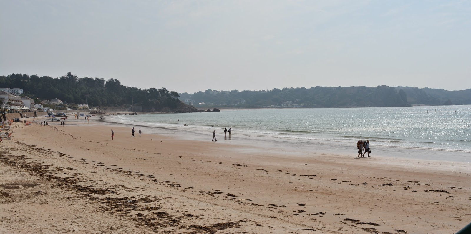
<svg viewBox="0 0 471 234"><path fill-rule="evenodd" d="M71 72L59 78L27 74L0 76L0 87L23 89L22 96L35 100L59 98L70 105L118 107L142 105L146 111L174 110L181 105L176 91L139 89L121 84L119 80L103 78L78 78Z"/></svg>

